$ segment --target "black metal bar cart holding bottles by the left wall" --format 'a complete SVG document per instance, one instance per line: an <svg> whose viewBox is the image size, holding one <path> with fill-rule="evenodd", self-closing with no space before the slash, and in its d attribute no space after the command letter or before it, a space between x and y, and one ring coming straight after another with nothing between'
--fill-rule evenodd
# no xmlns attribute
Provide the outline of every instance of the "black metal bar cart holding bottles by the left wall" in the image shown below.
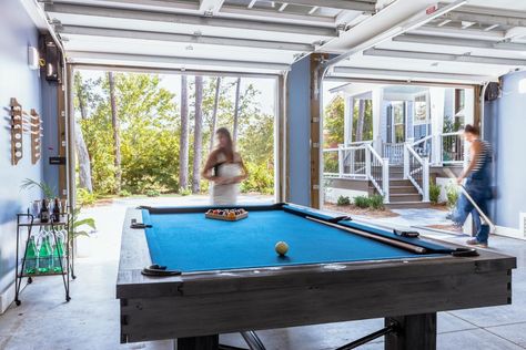
<svg viewBox="0 0 526 350"><path fill-rule="evenodd" d="M16 262L16 279L14 279L14 302L17 306L21 303L20 301L20 292L21 292L21 287L22 287L22 279L24 277L28 278L28 285L32 282L33 278L36 277L43 277L43 276L62 276L62 281L64 285L64 292L65 292L65 301L70 301L70 278L75 279L77 276L74 275L74 259L73 259L73 247L72 247L72 237L70 238L70 215L68 213L62 213L60 215L60 220L59 222L53 222L49 220L47 223L40 222L40 219L36 218L32 214L17 214L17 262ZM23 228L27 229L27 235L26 235L26 243L24 249L23 249L23 255L20 258L20 246L21 241L20 239L24 236L23 235ZM58 244L58 229L63 228L65 230L65 237L64 237L64 246L65 250L63 251L63 256L59 256L58 260L60 261L60 272L44 272L40 274L27 274L26 272L26 257L28 253L28 246L31 237L31 233L33 229L38 228L39 230L43 228L50 228L51 235L53 237L53 243L57 245ZM63 258L65 258L65 266L63 262Z"/></svg>

